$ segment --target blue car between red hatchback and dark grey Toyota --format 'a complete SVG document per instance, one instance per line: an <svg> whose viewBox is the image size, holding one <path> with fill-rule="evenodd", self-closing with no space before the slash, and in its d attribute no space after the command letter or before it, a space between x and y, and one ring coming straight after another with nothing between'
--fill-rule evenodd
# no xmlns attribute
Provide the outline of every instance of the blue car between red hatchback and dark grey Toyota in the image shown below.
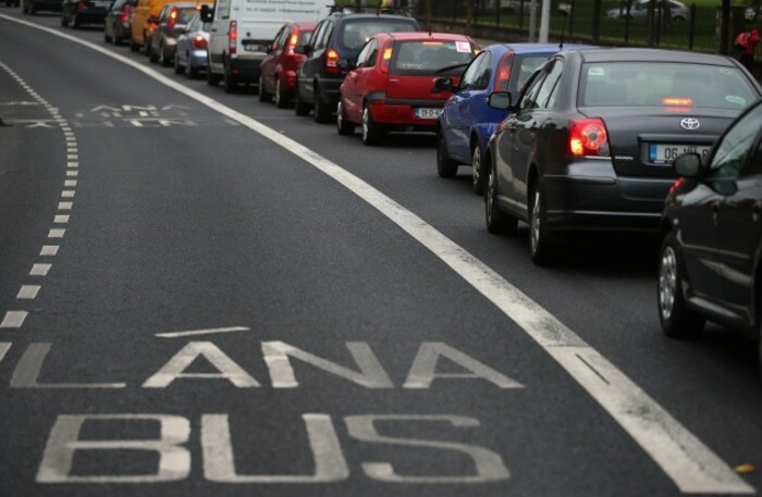
<svg viewBox="0 0 762 497"><path fill-rule="evenodd" d="M564 50L591 48L566 45ZM474 191L482 195L489 176L481 171L481 158L490 136L508 111L492 109L487 97L493 91L518 95L527 78L549 57L560 51L558 45L491 45L477 55L463 73L460 84L450 88L454 95L446 101L437 126L437 171L441 177L455 177L458 165L470 164ZM446 88L446 82L438 82Z"/></svg>

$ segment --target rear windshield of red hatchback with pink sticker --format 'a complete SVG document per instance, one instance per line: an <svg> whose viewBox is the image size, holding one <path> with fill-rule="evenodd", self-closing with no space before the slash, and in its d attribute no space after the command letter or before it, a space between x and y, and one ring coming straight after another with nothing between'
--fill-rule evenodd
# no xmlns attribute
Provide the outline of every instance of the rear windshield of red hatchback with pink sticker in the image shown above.
<svg viewBox="0 0 762 497"><path fill-rule="evenodd" d="M474 47L468 41L402 41L394 45L392 74L433 74L438 70L458 66L474 59Z"/></svg>

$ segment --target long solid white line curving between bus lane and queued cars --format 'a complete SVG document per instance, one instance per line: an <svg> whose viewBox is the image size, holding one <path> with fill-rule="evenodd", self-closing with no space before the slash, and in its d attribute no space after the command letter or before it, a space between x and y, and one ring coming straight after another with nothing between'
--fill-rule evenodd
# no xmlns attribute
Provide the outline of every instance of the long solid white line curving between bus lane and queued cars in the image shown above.
<svg viewBox="0 0 762 497"><path fill-rule="evenodd" d="M185 87L153 69L56 29L4 14L0 14L0 17L65 38L130 65L220 114L237 121L322 171L392 220L519 325L629 433L681 492L754 493L754 488L734 473L709 447L554 315L433 226L359 177L278 131ZM573 355L569 353L572 348L574 348ZM588 363L594 364L610 378L610 384L605 388L601 386L605 384L600 377L585 366L577 355L583 357ZM570 357L574 357L574 360L570 360Z"/></svg>

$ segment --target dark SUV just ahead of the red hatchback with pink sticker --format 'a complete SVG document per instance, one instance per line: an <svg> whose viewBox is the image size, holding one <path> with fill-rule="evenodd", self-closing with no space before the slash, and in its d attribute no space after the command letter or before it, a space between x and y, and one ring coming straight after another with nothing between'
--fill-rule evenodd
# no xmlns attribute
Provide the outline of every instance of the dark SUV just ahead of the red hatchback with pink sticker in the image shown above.
<svg viewBox="0 0 762 497"><path fill-rule="evenodd" d="M339 87L366 41L378 33L418 30L418 22L403 10L361 13L334 9L318 23L309 45L295 49L307 57L296 74L296 114L307 115L315 107L315 121L330 122L339 103Z"/></svg>

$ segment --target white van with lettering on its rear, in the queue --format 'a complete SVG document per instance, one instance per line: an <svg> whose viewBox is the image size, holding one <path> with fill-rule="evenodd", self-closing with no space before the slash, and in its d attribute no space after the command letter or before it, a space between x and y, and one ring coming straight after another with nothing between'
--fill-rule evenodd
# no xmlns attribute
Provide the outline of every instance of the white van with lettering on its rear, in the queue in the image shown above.
<svg viewBox="0 0 762 497"><path fill-rule="evenodd" d="M329 14L327 0L217 0L201 9L211 22L207 83L224 83L235 91L239 83L259 80L259 63L286 22L317 22Z"/></svg>

